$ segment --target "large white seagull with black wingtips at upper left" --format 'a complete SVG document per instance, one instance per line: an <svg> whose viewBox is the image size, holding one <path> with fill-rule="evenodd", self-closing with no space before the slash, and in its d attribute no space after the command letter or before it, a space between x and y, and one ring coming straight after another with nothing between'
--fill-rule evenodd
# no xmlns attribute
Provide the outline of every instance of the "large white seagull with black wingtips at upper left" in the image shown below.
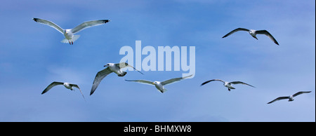
<svg viewBox="0 0 316 136"><path fill-rule="evenodd" d="M48 20L43 20L43 19L39 19L39 18L33 18L33 20L35 22L39 22L41 24L48 25L50 27L57 29L58 32L64 34L64 36L65 36L65 39L63 39L61 42L62 43L69 42L70 44L74 44L74 41L79 39L80 35L74 35L77 32L79 32L83 29L86 29L88 27L93 27L96 25L103 25L107 22L110 22L110 20L93 20L93 21L83 22L82 24L78 25L77 27L74 27L73 29L62 29L61 27L59 27L55 23L48 21Z"/></svg>

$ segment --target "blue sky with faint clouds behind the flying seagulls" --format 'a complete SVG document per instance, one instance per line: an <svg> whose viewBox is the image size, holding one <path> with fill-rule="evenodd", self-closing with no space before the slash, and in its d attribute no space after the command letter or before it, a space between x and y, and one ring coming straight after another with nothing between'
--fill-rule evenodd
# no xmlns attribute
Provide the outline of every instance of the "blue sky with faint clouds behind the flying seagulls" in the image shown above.
<svg viewBox="0 0 316 136"><path fill-rule="evenodd" d="M315 121L315 1L1 1L0 121ZM111 22L84 29L74 45L32 18L67 29L88 20ZM266 29L258 40L232 29ZM195 46L196 72L166 86L124 79L164 81L184 72L110 74L89 95L96 73L119 62L122 46ZM142 57L145 57L143 55ZM244 81L228 91L210 79ZM53 81L77 83L72 92ZM267 104L299 90L312 93Z"/></svg>

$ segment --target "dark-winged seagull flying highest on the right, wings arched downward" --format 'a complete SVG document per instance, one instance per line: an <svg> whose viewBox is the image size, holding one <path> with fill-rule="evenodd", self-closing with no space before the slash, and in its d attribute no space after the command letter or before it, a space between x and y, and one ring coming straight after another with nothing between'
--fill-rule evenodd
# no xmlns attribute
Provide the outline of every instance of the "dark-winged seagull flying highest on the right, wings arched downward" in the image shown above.
<svg viewBox="0 0 316 136"><path fill-rule="evenodd" d="M265 34L266 36L268 36L273 42L275 42L277 45L279 45L279 43L277 43L277 40L275 40L275 38L265 29L263 30L254 30L254 29L245 29L245 28L237 28L232 30L232 32L229 32L228 34L226 34L225 36L223 36L222 38L225 38L227 36L229 36L230 34L233 34L235 32L238 31L246 31L249 32L249 34L251 36L253 36L255 39L257 39L256 34ZM258 39L257 39L258 40Z"/></svg>

